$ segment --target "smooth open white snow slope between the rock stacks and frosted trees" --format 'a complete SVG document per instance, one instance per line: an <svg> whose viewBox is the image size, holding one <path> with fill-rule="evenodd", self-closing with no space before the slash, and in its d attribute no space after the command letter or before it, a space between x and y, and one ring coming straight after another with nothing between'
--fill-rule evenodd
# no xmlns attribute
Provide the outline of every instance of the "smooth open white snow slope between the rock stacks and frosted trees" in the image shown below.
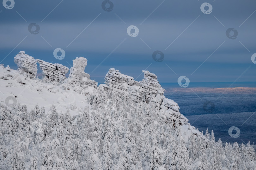
<svg viewBox="0 0 256 170"><path fill-rule="evenodd" d="M56 104L58 112L65 112L67 108L70 109L71 115L77 114L76 108L89 105L84 95L76 93L72 86L70 90L64 90L61 85L54 85L53 83L45 83L40 79L33 80L20 74L19 71L8 71L8 67L0 66L0 102L5 104L5 99L9 96L14 97L21 105L27 105L27 109L31 110L35 105L44 106L49 110L51 105ZM67 83L68 81L64 82ZM91 86L86 86L84 89L86 93L94 94L96 89ZM12 101L10 101L12 102Z"/></svg>

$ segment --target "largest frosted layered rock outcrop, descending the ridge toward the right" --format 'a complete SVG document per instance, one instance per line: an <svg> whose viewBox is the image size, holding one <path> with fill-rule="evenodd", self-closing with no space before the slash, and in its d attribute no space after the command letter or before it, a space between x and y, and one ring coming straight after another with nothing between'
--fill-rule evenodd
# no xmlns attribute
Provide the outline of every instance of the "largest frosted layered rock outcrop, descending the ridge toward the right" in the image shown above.
<svg viewBox="0 0 256 170"><path fill-rule="evenodd" d="M153 102L162 115L173 121L178 120L181 125L186 124L188 120L180 113L179 105L163 95L164 89L157 81L157 76L149 71L142 72L144 73L144 78L142 81L137 82L133 77L111 68L105 76L103 89L106 92L113 90L120 97L124 97L126 100L131 98L136 103Z"/></svg>

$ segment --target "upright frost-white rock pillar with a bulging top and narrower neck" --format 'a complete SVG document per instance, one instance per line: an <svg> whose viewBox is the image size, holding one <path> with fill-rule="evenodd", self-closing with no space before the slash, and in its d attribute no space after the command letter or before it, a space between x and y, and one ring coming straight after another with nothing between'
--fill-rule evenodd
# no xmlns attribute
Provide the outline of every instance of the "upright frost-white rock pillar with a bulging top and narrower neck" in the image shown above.
<svg viewBox="0 0 256 170"><path fill-rule="evenodd" d="M69 78L73 83L84 82L86 85L97 88L98 83L90 79L90 75L84 72L87 65L87 59L76 57L73 59L73 67L70 68Z"/></svg>

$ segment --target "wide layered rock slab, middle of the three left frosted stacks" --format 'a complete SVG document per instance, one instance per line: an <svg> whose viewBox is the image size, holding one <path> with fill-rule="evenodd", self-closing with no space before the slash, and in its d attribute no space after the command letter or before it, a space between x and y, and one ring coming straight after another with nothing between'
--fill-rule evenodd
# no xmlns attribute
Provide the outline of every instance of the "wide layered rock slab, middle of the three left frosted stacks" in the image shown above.
<svg viewBox="0 0 256 170"><path fill-rule="evenodd" d="M43 79L49 81L63 82L65 74L69 72L69 68L61 64L52 64L41 59L36 59L39 63L40 70L43 71Z"/></svg>

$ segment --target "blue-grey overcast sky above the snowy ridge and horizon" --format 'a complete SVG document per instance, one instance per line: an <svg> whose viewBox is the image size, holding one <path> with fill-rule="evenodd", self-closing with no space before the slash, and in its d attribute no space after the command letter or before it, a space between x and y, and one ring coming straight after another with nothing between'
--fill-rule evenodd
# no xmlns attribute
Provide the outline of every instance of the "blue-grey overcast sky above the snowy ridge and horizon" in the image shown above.
<svg viewBox="0 0 256 170"><path fill-rule="evenodd" d="M112 67L138 81L142 70L159 82L177 82L179 76L190 82L256 81L255 0L210 0L210 14L201 11L201 0L111 0L105 6L113 3L111 11L102 8L103 0L14 2L12 9L0 5L0 60L12 68L13 57L25 51L69 68L72 59L85 57L85 72L100 83ZM31 23L40 26L38 34L29 32ZM127 33L130 25L139 30L136 37ZM236 38L227 37L229 28ZM64 59L53 56L56 48L65 51ZM164 54L162 62L153 59L156 50Z"/></svg>

